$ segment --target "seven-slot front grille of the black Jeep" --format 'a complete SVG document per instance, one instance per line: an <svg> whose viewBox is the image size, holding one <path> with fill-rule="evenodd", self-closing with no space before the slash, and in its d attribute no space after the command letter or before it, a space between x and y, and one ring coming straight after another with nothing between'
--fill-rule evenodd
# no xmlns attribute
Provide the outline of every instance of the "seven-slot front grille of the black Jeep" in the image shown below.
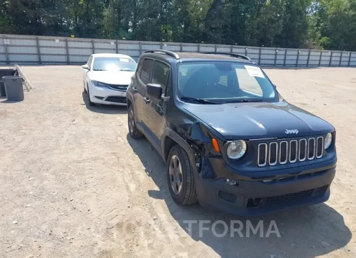
<svg viewBox="0 0 356 258"><path fill-rule="evenodd" d="M258 166L275 166L287 163L320 159L323 156L324 137L280 140L260 143L257 150Z"/></svg>

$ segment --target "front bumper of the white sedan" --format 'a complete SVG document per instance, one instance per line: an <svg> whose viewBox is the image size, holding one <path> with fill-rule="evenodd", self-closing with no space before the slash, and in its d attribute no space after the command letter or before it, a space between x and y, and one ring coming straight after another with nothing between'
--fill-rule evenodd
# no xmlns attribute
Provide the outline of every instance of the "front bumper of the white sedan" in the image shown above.
<svg viewBox="0 0 356 258"><path fill-rule="evenodd" d="M94 103L126 106L126 91L116 91L90 85L90 100Z"/></svg>

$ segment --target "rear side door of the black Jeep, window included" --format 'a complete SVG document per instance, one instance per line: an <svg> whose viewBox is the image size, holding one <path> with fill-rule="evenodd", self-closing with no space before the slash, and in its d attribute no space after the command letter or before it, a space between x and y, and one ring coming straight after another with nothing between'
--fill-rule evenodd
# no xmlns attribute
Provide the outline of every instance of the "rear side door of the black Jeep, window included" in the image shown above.
<svg viewBox="0 0 356 258"><path fill-rule="evenodd" d="M135 115L136 115L136 123L143 123L144 117L144 102L143 99L146 97L146 84L151 80L151 73L153 68L153 59L151 58L143 58L142 68L138 69L138 78L134 87L134 101L135 101ZM139 63L139 66L141 64Z"/></svg>

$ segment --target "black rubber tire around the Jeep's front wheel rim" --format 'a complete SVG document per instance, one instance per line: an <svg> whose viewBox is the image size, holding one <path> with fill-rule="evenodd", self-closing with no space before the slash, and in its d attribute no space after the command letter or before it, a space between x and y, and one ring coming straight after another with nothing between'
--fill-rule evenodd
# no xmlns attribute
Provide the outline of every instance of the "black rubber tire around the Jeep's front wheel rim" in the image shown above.
<svg viewBox="0 0 356 258"><path fill-rule="evenodd" d="M171 169L171 162L174 163L175 156L178 157L178 162L180 164L181 168L181 189L177 194L177 191L175 192L172 182L172 176L173 174L170 173ZM179 165L178 165L179 167ZM169 192L171 193L171 196L173 200L179 204L179 205L187 205L187 204L193 204L198 201L197 197L197 191L194 185L194 175L193 175L193 169L192 166L189 162L189 158L185 150L180 147L179 145L175 145L171 148L169 151L168 155L168 160L167 160L167 181L168 181L168 188ZM179 170L179 168L178 168ZM177 190L177 188L176 188Z"/></svg>

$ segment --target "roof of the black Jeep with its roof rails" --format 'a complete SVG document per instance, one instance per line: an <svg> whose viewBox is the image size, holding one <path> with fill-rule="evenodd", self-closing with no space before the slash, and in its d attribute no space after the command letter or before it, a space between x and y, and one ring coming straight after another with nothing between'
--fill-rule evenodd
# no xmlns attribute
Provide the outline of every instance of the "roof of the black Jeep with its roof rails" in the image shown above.
<svg viewBox="0 0 356 258"><path fill-rule="evenodd" d="M194 53L194 52L172 52L168 50L147 50L145 53L158 54L160 57L166 58L174 58L174 59L215 59L215 60L236 60L236 61L244 61L244 62L252 62L252 60L244 55L240 55L238 53L219 53L219 52L202 52L202 53Z"/></svg>

